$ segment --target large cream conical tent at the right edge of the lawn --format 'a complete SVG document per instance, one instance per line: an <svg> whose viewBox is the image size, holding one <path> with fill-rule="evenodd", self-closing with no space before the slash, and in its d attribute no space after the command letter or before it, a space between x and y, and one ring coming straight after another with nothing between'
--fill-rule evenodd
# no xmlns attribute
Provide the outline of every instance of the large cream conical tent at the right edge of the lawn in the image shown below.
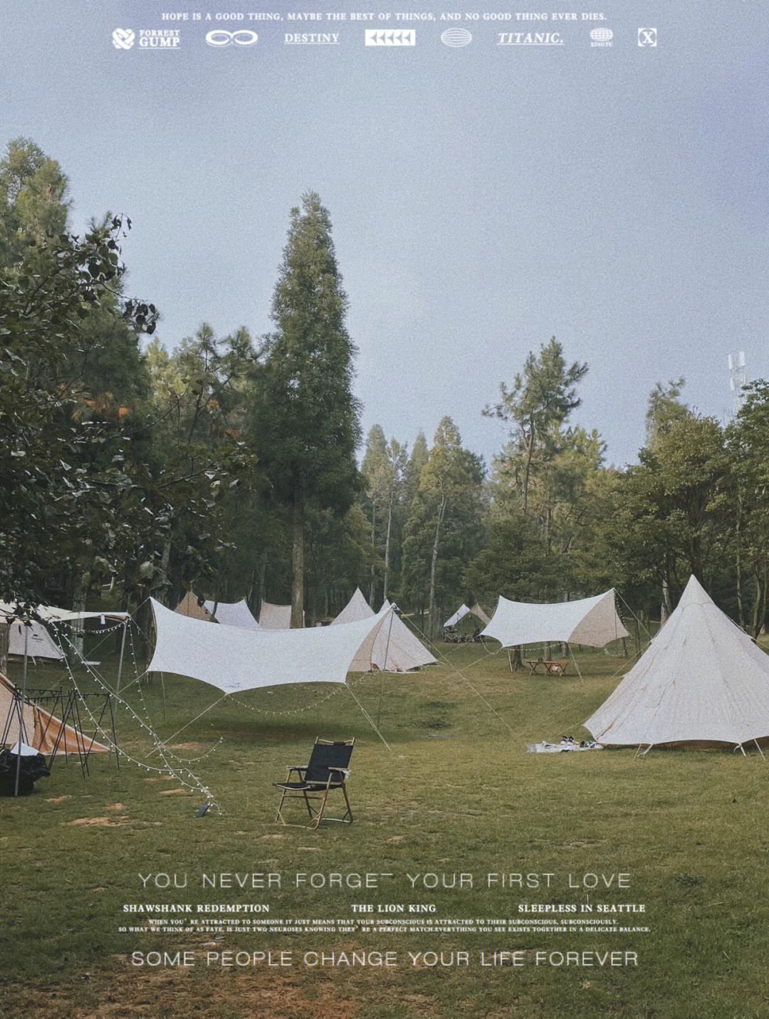
<svg viewBox="0 0 769 1019"><path fill-rule="evenodd" d="M762 740L769 737L769 655L693 576L667 623L585 727L605 746Z"/></svg>

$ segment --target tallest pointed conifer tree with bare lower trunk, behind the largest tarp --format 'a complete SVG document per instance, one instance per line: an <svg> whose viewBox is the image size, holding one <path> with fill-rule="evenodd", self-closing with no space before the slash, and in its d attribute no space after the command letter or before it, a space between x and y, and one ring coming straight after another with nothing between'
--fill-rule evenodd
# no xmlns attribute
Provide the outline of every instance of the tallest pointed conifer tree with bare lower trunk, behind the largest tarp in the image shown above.
<svg viewBox="0 0 769 1019"><path fill-rule="evenodd" d="M272 490L290 511L292 627L303 625L306 509L314 503L342 514L361 489L346 311L329 214L309 192L291 210L254 415L254 441Z"/></svg>

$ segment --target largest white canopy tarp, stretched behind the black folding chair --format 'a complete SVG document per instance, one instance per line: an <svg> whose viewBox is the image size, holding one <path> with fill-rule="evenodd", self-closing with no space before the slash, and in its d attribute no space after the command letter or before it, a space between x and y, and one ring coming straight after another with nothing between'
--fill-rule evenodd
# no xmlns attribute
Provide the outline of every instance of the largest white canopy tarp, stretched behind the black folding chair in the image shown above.
<svg viewBox="0 0 769 1019"><path fill-rule="evenodd" d="M155 651L149 673L173 673L231 694L286 683L344 683L358 655L369 659L390 610L341 627L243 630L212 627L180 615L151 598ZM367 668L370 666L367 666Z"/></svg>

